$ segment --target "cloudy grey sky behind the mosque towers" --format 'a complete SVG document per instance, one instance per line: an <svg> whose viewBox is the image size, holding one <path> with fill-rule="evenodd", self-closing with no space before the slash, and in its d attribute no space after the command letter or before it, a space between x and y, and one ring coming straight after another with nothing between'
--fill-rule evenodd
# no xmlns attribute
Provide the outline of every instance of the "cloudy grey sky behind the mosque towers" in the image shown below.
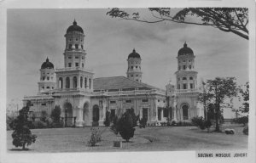
<svg viewBox="0 0 256 163"><path fill-rule="evenodd" d="M48 57L64 67L65 33L75 19L84 29L85 67L94 77L126 76L133 48L142 58L143 79L165 88L176 82L177 52L187 42L195 54L201 79L235 76L238 85L248 79L248 41L211 26L172 22L156 24L118 20L101 9L8 9L7 102L38 93L39 69ZM137 9L148 15L147 8Z"/></svg>

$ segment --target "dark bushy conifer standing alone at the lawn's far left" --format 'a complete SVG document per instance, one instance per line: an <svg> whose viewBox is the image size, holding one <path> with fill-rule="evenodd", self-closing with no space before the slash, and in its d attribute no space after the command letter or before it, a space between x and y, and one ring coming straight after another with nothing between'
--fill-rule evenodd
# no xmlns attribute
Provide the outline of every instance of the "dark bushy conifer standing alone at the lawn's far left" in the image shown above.
<svg viewBox="0 0 256 163"><path fill-rule="evenodd" d="M37 138L36 135L32 135L29 128L32 122L27 120L30 106L31 102L28 101L26 106L19 111L18 117L11 124L14 129L14 132L12 133L13 144L15 147L22 147L23 150L25 149L25 146L35 143Z"/></svg>

